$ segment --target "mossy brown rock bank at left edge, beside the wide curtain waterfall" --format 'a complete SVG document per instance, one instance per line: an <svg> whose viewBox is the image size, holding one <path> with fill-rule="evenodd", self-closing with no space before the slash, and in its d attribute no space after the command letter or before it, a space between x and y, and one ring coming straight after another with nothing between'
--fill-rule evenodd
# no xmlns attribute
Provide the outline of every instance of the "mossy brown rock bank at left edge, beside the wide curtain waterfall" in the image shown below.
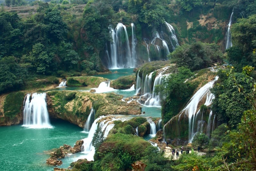
<svg viewBox="0 0 256 171"><path fill-rule="evenodd" d="M0 97L0 126L21 123L24 96L24 92L12 92Z"/></svg>

